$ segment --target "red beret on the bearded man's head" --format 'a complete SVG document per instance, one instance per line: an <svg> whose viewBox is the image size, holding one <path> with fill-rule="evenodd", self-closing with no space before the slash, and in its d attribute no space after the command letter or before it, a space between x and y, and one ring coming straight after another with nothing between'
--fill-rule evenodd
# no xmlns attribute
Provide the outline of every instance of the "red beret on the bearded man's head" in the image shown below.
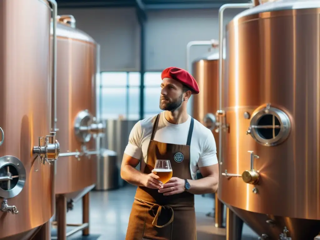
<svg viewBox="0 0 320 240"><path fill-rule="evenodd" d="M192 94L198 94L200 92L199 86L193 76L186 70L176 67L170 67L163 70L161 73L161 79L171 78L180 83L188 86L192 90Z"/></svg>

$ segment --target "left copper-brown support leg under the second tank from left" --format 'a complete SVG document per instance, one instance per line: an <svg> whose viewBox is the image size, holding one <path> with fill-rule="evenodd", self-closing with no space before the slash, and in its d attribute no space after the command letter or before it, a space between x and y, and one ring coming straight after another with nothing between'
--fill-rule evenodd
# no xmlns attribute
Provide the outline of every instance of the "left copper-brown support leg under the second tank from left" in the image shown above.
<svg viewBox="0 0 320 240"><path fill-rule="evenodd" d="M57 196L56 215L57 215L58 239L67 240L67 199L64 195Z"/></svg>

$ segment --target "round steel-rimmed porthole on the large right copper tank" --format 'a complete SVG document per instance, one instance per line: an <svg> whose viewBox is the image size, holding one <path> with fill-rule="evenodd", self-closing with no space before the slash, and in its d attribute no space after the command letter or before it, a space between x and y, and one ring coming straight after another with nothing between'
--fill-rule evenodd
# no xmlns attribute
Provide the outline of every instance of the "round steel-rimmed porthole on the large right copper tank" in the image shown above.
<svg viewBox="0 0 320 240"><path fill-rule="evenodd" d="M276 146L288 138L290 130L288 115L278 108L267 105L254 111L248 132L258 143L264 146Z"/></svg>

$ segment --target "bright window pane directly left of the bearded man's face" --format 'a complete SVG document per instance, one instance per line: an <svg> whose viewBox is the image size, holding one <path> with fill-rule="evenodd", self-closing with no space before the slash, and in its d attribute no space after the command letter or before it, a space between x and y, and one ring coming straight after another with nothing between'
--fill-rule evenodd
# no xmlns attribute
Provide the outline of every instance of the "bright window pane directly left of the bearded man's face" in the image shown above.
<svg viewBox="0 0 320 240"><path fill-rule="evenodd" d="M160 112L159 108L161 87L144 88L144 112Z"/></svg>

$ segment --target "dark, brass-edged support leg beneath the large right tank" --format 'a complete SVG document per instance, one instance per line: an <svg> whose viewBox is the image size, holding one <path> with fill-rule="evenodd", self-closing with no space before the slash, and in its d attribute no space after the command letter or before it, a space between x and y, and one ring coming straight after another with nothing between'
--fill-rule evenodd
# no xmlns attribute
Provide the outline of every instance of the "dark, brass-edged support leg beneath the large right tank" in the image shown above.
<svg viewBox="0 0 320 240"><path fill-rule="evenodd" d="M227 208L226 240L241 240L243 221Z"/></svg>

